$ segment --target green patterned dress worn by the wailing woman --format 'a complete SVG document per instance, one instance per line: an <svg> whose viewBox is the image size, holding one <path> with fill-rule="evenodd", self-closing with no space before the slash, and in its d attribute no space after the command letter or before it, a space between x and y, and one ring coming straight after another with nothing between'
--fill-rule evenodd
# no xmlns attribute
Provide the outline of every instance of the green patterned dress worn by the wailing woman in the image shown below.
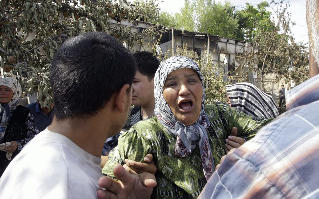
<svg viewBox="0 0 319 199"><path fill-rule="evenodd" d="M215 165L226 154L225 139L233 127L237 127L238 137L248 140L272 120L239 113L225 103L206 105L205 112L211 122L207 134ZM155 116L142 120L119 137L118 146L110 152L102 172L114 177L116 164L123 165L125 159L144 162L145 155L152 153L157 167L157 186L151 198L197 198L206 184L199 147L182 158L175 155L175 145L175 135Z"/></svg>

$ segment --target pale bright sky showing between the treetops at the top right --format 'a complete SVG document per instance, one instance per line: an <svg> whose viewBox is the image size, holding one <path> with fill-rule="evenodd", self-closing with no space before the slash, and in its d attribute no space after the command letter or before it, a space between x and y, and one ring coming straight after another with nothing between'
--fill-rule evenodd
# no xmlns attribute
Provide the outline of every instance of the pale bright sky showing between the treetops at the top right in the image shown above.
<svg viewBox="0 0 319 199"><path fill-rule="evenodd" d="M179 12L184 4L184 0L160 0L160 7L162 10L168 11L170 13ZM223 0L216 0L224 2ZM263 0L230 0L235 6L244 7L246 2L256 5ZM267 0L270 2L270 0ZM308 42L308 30L306 24L306 0L291 0L289 2L290 9L292 12L292 20L296 23L291 29L295 41L304 43ZM274 8L275 9L275 8Z"/></svg>

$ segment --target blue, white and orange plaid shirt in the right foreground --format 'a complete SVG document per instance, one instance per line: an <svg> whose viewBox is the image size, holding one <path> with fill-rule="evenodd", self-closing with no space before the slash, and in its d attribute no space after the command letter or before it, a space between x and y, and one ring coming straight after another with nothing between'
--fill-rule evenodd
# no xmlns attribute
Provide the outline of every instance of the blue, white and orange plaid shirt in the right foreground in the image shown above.
<svg viewBox="0 0 319 199"><path fill-rule="evenodd" d="M318 77L288 94L303 106L226 156L199 198L319 198L319 100L318 95L305 97L318 93Z"/></svg>

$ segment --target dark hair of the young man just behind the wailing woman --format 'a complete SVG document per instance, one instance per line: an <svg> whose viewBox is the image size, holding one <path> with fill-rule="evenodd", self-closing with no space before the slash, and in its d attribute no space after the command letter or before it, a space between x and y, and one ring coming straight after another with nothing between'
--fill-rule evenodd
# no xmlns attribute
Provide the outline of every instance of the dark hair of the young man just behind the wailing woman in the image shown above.
<svg viewBox="0 0 319 199"><path fill-rule="evenodd" d="M148 51L137 52L133 54L137 64L137 71L148 77L151 81L154 78L157 68L159 68L159 60Z"/></svg>

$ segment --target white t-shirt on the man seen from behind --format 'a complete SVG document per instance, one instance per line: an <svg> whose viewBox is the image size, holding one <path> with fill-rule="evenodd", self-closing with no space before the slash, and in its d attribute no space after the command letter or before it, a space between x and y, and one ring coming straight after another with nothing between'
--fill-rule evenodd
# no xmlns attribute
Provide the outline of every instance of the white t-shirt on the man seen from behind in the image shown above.
<svg viewBox="0 0 319 199"><path fill-rule="evenodd" d="M97 198L100 162L101 158L46 128L5 170L0 198Z"/></svg>

